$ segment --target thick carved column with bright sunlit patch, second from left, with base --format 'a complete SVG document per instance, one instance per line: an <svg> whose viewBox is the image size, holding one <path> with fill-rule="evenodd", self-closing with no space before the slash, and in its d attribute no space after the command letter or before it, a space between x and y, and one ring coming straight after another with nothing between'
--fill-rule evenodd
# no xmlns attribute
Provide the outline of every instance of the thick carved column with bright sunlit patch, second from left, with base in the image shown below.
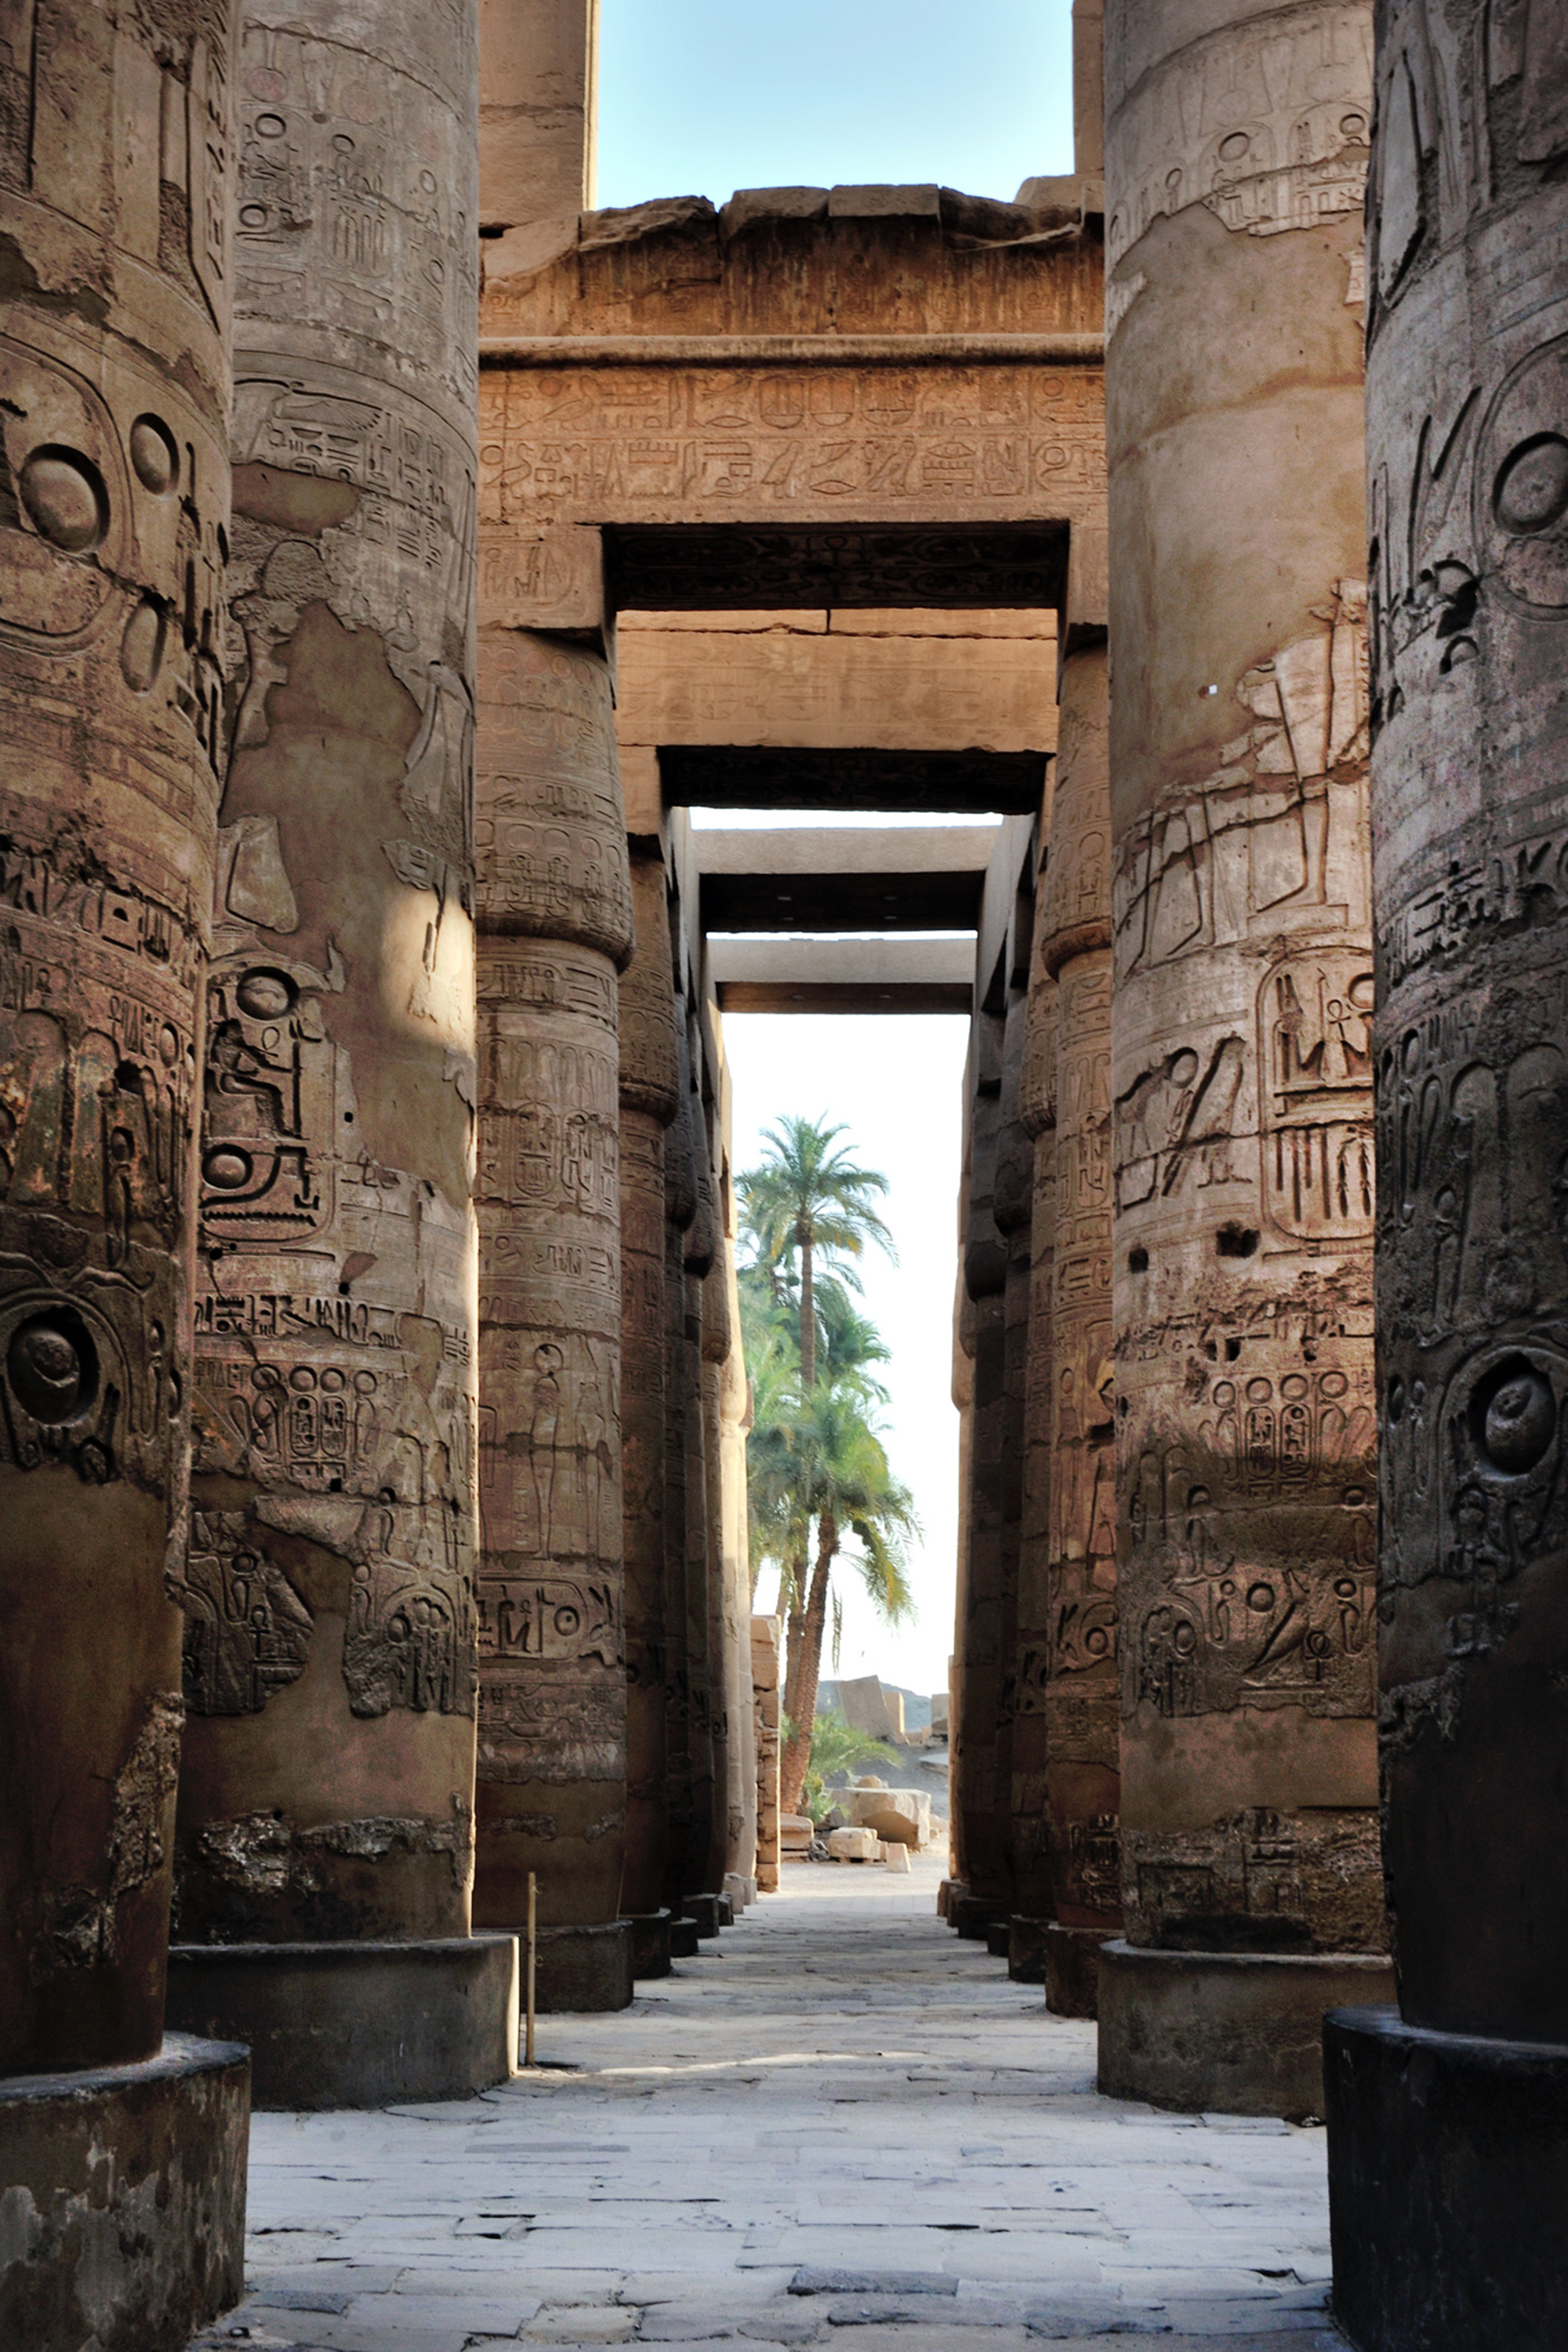
<svg viewBox="0 0 1568 2352"><path fill-rule="evenodd" d="M336 0L247 21L240 101L244 659L172 2009L193 2023L230 1999L212 1947L449 1938L456 2009L473 1966L473 21L404 12L390 47ZM303 2030L292 1966L261 1955L244 2002L263 2103ZM480 2079L510 2065L494 2027ZM362 2077L343 2063L320 2096L395 2091L369 2042Z"/></svg>

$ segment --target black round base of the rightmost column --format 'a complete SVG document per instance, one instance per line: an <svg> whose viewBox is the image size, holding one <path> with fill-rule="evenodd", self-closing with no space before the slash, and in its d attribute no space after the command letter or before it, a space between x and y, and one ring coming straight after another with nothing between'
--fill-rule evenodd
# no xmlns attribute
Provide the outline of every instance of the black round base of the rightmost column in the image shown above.
<svg viewBox="0 0 1568 2352"><path fill-rule="evenodd" d="M1568 2049L1324 2020L1333 2317L1359 2352L1568 2345Z"/></svg>

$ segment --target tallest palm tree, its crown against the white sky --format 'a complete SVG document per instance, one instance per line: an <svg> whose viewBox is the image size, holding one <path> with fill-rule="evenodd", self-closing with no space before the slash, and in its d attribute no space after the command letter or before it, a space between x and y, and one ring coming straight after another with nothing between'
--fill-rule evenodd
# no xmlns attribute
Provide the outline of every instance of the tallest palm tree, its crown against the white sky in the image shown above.
<svg viewBox="0 0 1568 2352"><path fill-rule="evenodd" d="M806 1390L816 1385L818 1258L853 1289L860 1287L853 1265L842 1261L858 1258L867 1242L879 1242L898 1263L893 1235L875 1209L889 1181L835 1150L846 1131L823 1120L780 1120L764 1138L769 1157L738 1185L757 1263L788 1282L799 1254L799 1376Z"/></svg>

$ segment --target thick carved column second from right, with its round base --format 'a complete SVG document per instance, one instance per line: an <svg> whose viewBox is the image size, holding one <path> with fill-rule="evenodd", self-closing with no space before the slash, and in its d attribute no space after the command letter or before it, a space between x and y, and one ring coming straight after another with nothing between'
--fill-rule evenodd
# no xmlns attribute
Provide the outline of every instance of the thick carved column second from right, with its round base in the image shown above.
<svg viewBox="0 0 1568 2352"><path fill-rule="evenodd" d="M1103 1955L1100 2084L1291 2114L1321 2112L1321 2011L1389 1983L1359 402L1371 7L1227 0L1204 24L1140 0L1105 14L1128 1940Z"/></svg>

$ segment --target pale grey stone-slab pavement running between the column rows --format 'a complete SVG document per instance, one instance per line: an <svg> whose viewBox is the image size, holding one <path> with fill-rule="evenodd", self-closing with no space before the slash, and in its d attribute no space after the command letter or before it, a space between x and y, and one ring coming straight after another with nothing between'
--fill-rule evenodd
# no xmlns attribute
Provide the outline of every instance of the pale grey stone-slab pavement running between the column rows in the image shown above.
<svg viewBox="0 0 1568 2352"><path fill-rule="evenodd" d="M202 2345L1340 2352L1321 2129L1098 2098L1093 2027L938 1877L790 1865L501 2091L256 2117L252 2296Z"/></svg>

